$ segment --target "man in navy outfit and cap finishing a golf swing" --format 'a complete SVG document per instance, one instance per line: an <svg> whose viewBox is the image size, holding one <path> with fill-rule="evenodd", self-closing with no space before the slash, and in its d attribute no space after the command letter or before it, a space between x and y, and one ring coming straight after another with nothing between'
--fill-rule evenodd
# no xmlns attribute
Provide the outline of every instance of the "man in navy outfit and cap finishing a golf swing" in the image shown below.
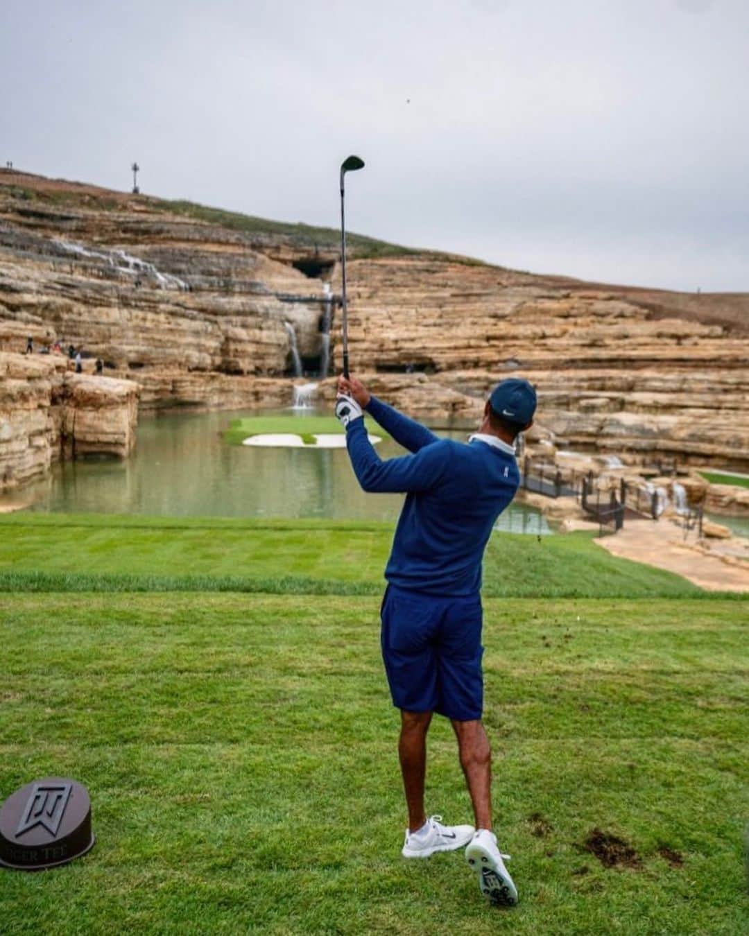
<svg viewBox="0 0 749 936"><path fill-rule="evenodd" d="M513 443L536 412L525 380L492 390L468 443L439 439L341 377L335 415L363 490L406 495L385 570L382 655L393 704L401 709L398 753L408 808L403 855L426 858L467 845L481 892L513 904L518 892L492 831L492 753L481 724L481 560L494 523L518 489ZM412 454L382 461L362 411ZM426 735L433 713L452 723L476 826L444 826L424 812Z"/></svg>

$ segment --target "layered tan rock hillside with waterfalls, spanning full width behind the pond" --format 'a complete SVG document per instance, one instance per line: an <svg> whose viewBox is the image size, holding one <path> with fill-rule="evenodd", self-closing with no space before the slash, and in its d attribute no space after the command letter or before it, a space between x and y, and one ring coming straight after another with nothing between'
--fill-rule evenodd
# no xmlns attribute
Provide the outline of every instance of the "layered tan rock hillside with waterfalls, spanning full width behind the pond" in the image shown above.
<svg viewBox="0 0 749 936"><path fill-rule="evenodd" d="M102 358L139 385L141 408L285 402L295 363L319 370L326 320L340 359L339 291L336 231L0 170L0 350L81 347L84 370ZM522 375L558 447L749 467L747 295L352 236L349 297L356 369L422 415L473 418L492 383Z"/></svg>

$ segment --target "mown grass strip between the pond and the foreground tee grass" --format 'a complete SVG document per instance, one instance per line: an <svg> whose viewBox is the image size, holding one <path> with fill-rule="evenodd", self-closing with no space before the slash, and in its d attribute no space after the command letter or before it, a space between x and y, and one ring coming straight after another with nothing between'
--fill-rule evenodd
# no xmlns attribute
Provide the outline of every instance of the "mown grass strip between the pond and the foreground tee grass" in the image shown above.
<svg viewBox="0 0 749 936"><path fill-rule="evenodd" d="M0 518L0 590L372 594L391 540L386 523L15 514ZM484 561L487 596L702 593L591 534L496 533Z"/></svg>

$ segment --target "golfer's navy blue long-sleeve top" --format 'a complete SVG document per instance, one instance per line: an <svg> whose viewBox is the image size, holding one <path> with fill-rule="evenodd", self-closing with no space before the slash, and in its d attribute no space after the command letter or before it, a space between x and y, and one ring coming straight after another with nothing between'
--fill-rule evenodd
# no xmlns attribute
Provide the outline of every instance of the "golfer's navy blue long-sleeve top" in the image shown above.
<svg viewBox="0 0 749 936"><path fill-rule="evenodd" d="M382 461L364 420L348 424L346 447L363 490L406 495L385 578L416 592L477 594L484 548L520 483L512 446L493 437L493 444L440 439L375 397L366 411L413 453Z"/></svg>

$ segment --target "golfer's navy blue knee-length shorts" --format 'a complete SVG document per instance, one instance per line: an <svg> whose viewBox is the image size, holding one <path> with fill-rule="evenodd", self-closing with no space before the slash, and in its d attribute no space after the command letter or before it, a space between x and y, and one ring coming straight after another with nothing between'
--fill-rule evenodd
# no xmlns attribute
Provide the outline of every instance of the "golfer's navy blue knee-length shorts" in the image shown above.
<svg viewBox="0 0 749 936"><path fill-rule="evenodd" d="M459 722L481 717L481 599L441 598L388 586L382 658L393 705Z"/></svg>

